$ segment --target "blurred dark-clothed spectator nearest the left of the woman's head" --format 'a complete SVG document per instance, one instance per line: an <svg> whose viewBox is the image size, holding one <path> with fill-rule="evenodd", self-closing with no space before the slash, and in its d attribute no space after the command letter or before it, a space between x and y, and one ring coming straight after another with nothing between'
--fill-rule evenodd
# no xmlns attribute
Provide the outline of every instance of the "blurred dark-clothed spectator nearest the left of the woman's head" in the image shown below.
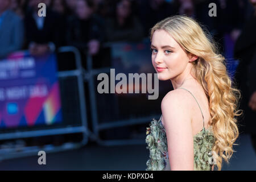
<svg viewBox="0 0 256 182"><path fill-rule="evenodd" d="M115 15L106 20L106 33L109 42L139 41L143 38L143 27L133 14L131 1L120 0L115 6Z"/></svg>

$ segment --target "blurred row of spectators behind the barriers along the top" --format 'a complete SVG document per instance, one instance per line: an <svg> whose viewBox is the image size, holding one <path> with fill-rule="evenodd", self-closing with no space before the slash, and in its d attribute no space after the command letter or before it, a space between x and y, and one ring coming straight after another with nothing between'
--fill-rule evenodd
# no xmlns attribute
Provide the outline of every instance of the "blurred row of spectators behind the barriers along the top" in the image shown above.
<svg viewBox="0 0 256 182"><path fill-rule="evenodd" d="M47 6L39 17L39 3ZM216 3L217 16L208 15ZM223 49L223 36L240 35L253 8L248 0L0 0L0 58L19 49L43 55L75 46L97 55L104 42L138 42L156 22L187 14L204 24Z"/></svg>

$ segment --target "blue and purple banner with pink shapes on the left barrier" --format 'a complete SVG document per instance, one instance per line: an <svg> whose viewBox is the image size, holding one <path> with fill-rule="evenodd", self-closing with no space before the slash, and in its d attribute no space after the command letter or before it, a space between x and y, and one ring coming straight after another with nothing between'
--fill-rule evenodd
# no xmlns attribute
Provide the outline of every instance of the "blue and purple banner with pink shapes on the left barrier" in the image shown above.
<svg viewBox="0 0 256 182"><path fill-rule="evenodd" d="M0 60L0 128L62 121L55 54L15 52Z"/></svg>

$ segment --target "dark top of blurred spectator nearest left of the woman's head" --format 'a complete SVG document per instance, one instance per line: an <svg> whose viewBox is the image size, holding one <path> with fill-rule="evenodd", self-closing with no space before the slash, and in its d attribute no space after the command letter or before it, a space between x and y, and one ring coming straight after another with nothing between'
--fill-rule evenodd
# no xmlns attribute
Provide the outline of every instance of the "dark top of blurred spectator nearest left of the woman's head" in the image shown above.
<svg viewBox="0 0 256 182"><path fill-rule="evenodd" d="M106 20L106 34L109 42L139 41L143 38L143 27L135 16L126 20L123 26L114 18Z"/></svg>

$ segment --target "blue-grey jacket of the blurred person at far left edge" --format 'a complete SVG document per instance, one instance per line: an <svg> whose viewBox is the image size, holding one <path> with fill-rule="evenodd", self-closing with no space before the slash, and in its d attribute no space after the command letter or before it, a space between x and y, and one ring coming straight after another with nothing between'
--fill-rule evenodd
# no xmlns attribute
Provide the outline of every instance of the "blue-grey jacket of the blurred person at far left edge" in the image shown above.
<svg viewBox="0 0 256 182"><path fill-rule="evenodd" d="M6 10L0 25L0 59L23 46L23 20L11 10Z"/></svg>

